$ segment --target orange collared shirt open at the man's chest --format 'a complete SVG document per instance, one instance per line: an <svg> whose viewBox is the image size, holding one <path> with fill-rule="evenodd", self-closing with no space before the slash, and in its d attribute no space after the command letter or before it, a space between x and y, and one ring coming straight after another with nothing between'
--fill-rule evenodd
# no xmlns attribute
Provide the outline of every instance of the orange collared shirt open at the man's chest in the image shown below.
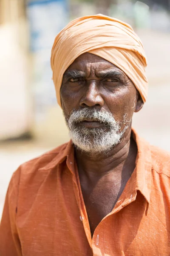
<svg viewBox="0 0 170 256"><path fill-rule="evenodd" d="M170 256L170 154L133 137L136 168L93 238L71 142L21 165L6 195L0 256Z"/></svg>

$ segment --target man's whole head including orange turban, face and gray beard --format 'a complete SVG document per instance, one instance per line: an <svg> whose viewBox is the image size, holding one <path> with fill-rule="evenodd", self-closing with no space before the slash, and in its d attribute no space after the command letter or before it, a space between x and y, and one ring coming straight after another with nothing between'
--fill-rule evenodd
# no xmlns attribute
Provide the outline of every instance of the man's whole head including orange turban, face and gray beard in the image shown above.
<svg viewBox="0 0 170 256"><path fill-rule="evenodd" d="M146 58L133 29L104 15L69 23L56 37L51 67L73 143L106 152L131 128L146 100Z"/></svg>

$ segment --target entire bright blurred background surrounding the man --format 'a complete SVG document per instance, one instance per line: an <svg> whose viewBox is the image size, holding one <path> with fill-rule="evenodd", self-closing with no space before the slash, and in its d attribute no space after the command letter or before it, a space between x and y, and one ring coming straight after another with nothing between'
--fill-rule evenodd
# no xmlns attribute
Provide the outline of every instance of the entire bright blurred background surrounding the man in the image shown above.
<svg viewBox="0 0 170 256"><path fill-rule="evenodd" d="M170 0L0 0L0 217L17 167L69 140L51 47L70 20L97 13L130 23L142 39L149 94L133 127L170 151Z"/></svg>

